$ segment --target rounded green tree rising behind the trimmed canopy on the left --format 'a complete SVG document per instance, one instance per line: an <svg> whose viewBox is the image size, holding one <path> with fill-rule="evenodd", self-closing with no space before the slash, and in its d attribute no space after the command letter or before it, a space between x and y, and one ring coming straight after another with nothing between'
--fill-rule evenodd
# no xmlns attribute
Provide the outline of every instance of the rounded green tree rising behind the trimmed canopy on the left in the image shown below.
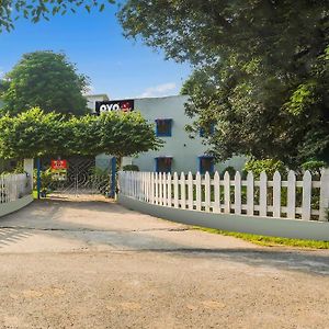
<svg viewBox="0 0 329 329"><path fill-rule="evenodd" d="M87 113L87 100L82 92L88 86L88 78L79 75L76 66L64 54L25 54L5 75L1 84L1 99L5 103L3 111L10 114L36 106L46 113Z"/></svg>

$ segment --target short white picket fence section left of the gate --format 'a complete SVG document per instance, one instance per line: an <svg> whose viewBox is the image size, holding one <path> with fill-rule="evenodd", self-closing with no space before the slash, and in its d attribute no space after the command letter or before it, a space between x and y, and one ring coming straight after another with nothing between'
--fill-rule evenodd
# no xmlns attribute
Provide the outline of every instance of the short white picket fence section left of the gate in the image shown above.
<svg viewBox="0 0 329 329"><path fill-rule="evenodd" d="M0 204L19 200L31 193L31 180L25 173L0 175Z"/></svg>

